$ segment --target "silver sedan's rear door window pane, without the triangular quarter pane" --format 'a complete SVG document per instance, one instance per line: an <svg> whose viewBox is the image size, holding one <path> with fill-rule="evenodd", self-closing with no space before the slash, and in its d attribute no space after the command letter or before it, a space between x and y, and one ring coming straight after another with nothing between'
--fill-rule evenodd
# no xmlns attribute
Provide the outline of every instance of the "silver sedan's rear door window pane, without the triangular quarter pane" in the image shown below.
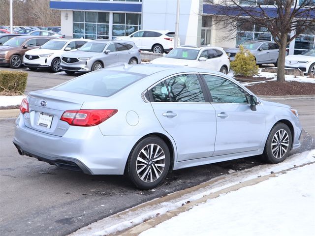
<svg viewBox="0 0 315 236"><path fill-rule="evenodd" d="M178 75L165 80L172 102L204 102L197 75ZM164 91L163 91L164 92Z"/></svg>

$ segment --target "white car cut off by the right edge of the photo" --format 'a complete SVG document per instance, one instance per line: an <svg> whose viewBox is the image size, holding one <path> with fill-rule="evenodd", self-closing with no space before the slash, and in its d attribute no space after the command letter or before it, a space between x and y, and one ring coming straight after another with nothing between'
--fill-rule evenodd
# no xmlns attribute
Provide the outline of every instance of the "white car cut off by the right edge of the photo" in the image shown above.
<svg viewBox="0 0 315 236"><path fill-rule="evenodd" d="M299 68L305 74L315 75L315 48L301 55L289 55L285 57L286 68Z"/></svg>

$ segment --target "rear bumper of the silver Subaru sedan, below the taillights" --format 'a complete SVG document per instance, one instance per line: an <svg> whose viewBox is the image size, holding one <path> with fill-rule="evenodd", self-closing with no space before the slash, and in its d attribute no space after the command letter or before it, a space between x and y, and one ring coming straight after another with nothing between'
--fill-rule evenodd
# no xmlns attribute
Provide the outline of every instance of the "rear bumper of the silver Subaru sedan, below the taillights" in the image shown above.
<svg viewBox="0 0 315 236"><path fill-rule="evenodd" d="M28 128L16 120L14 145L29 156L67 170L90 175L123 175L139 136L104 136L98 126L71 126L61 136Z"/></svg>

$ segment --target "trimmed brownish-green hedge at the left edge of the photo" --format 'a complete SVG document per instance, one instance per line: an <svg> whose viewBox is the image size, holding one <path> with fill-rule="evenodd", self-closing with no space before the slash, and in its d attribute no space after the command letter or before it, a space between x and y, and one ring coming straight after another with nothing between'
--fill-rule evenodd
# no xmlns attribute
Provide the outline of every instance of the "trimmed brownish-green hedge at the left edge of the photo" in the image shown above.
<svg viewBox="0 0 315 236"><path fill-rule="evenodd" d="M22 71L0 70L0 94L23 94L26 88L28 73Z"/></svg>

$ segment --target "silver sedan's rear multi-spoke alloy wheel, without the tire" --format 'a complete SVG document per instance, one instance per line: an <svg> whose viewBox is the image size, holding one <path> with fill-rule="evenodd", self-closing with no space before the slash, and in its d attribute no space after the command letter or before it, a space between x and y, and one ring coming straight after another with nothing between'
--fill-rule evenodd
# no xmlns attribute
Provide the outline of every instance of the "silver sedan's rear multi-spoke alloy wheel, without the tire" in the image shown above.
<svg viewBox="0 0 315 236"><path fill-rule="evenodd" d="M149 144L141 149L136 161L138 177L144 182L154 182L163 173L165 153L157 144Z"/></svg>

